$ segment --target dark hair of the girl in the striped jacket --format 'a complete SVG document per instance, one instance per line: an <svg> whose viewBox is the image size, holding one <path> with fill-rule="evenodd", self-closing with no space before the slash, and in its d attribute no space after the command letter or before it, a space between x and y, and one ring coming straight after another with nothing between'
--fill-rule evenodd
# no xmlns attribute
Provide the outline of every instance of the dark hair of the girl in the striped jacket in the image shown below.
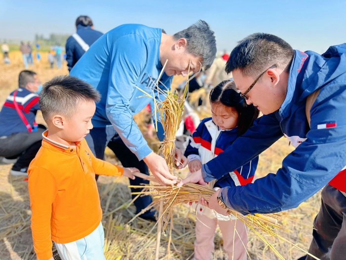
<svg viewBox="0 0 346 260"><path fill-rule="evenodd" d="M220 103L228 107L234 107L238 113L238 133L244 134L254 120L259 117L259 110L253 104L246 104L245 99L240 97L233 80L225 80L219 83L210 92L210 103Z"/></svg>

